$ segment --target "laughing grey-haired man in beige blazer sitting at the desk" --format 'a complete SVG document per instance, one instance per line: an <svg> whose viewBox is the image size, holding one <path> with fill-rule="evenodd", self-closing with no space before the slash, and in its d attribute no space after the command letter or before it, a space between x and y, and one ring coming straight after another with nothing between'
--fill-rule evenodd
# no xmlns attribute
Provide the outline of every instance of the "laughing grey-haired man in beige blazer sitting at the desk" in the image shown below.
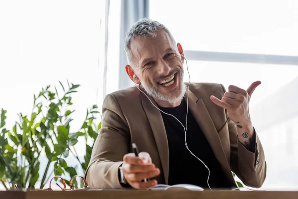
<svg viewBox="0 0 298 199"><path fill-rule="evenodd" d="M248 110L260 82L247 90L229 86L227 92L220 84L184 84L181 44L149 19L131 28L125 45L126 72L138 86L103 102L102 127L85 174L90 188L230 189L236 187L232 172L247 186L261 187L266 162ZM139 157L132 143L143 151Z"/></svg>

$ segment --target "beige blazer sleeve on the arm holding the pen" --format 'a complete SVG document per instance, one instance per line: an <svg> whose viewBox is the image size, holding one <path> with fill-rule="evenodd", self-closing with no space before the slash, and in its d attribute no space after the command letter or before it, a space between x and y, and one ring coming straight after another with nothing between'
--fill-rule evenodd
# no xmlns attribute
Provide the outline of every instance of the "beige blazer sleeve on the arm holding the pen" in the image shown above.
<svg viewBox="0 0 298 199"><path fill-rule="evenodd" d="M85 179L90 189L122 189L118 168L129 150L128 124L112 95L105 97L102 113L101 129L92 149Z"/></svg>

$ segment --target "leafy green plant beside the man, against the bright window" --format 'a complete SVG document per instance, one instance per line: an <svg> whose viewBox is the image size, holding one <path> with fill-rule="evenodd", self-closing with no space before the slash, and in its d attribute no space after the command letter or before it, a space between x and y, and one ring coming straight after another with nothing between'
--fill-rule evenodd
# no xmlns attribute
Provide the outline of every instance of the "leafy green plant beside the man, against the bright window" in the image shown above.
<svg viewBox="0 0 298 199"><path fill-rule="evenodd" d="M21 189L42 189L53 175L74 176L77 169L84 173L90 161L92 145L101 122L96 124L96 116L100 115L97 106L87 109L86 118L78 131L70 132L72 122L71 94L77 92L80 85L68 83L68 89L59 82L63 95L59 98L58 91L50 91L50 86L36 97L30 115L19 113L19 122L9 130L5 128L6 110L0 113L0 181L5 189L12 189L14 184ZM80 160L74 148L78 138L85 141L84 160ZM78 167L68 166L65 158L72 153L77 159ZM47 165L40 168L40 155L45 154ZM49 171L50 165L54 169ZM80 168L79 168L80 167ZM43 172L42 176L39 176ZM54 174L53 174L54 173ZM37 187L39 180L40 186ZM69 183L67 181L67 183ZM74 184L76 182L74 181Z"/></svg>

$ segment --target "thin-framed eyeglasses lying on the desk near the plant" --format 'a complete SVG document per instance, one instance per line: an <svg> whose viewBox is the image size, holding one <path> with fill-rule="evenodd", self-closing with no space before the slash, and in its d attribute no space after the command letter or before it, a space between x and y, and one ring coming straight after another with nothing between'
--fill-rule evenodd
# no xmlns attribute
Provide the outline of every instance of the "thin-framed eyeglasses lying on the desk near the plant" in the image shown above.
<svg viewBox="0 0 298 199"><path fill-rule="evenodd" d="M75 179L76 177L80 177L80 178L82 179L83 184L84 184L84 187L83 187L83 188L75 189L75 186L74 186L74 179ZM63 187L61 187L58 183L56 183L56 185L57 185L62 191L75 191L75 190L88 190L88 189L90 189L84 177L79 176L79 175L75 175L75 176L70 180L70 182L69 182L69 184L70 184L70 185L69 185L69 186L70 186L69 189L66 188L66 185L67 185L67 184L66 184L66 181L65 181L61 176L54 176L54 177L50 180L49 188L46 188L46 189L40 189L40 190L35 190L35 191L53 191L53 189L52 189L52 181L55 180L55 179L57 179L57 178L61 180L61 183L62 183ZM16 187L16 188L17 188L17 187Z"/></svg>

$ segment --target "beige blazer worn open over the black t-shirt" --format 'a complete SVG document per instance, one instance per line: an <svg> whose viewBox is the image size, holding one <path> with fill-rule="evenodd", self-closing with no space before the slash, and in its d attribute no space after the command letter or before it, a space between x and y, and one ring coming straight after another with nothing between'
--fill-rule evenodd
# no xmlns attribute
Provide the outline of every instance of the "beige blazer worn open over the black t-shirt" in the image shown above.
<svg viewBox="0 0 298 199"><path fill-rule="evenodd" d="M211 95L222 99L224 92L220 84L192 83L188 106L226 178L236 187L231 173L233 171L245 185L259 188L266 178L263 147L257 135L255 153L239 142L236 125L227 117L226 110L210 100ZM167 184L169 150L160 111L138 88L132 87L107 95L102 113L102 126L85 174L90 188L122 188L118 180L118 168L123 163L123 156L132 152L132 142L137 144L140 152L148 152L152 162L160 169L160 175L154 179L159 184Z"/></svg>

